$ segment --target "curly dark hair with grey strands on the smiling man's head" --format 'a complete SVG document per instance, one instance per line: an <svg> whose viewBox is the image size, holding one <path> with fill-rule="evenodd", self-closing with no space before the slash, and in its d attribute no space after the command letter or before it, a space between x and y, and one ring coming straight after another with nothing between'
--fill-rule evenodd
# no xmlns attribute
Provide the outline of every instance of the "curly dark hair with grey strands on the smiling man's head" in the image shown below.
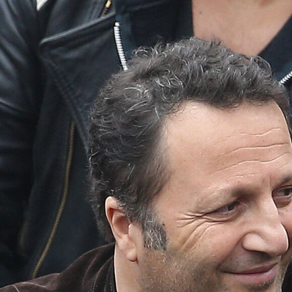
<svg viewBox="0 0 292 292"><path fill-rule="evenodd" d="M231 108L270 101L287 120L286 91L258 56L196 37L136 50L128 70L102 89L90 116L91 201L107 239L112 240L104 206L108 196L118 199L144 233L165 237L162 226L151 225L155 220L149 218L153 197L169 177L162 143L168 115L185 102Z"/></svg>

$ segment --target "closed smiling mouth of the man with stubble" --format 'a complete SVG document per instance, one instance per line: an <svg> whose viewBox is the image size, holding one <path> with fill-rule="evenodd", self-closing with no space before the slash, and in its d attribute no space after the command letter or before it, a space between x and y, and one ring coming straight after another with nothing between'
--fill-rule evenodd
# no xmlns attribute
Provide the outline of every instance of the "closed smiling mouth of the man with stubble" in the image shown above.
<svg viewBox="0 0 292 292"><path fill-rule="evenodd" d="M238 280L244 282L245 284L258 285L265 282L272 283L275 280L278 271L279 265L274 263L231 274L236 276Z"/></svg>

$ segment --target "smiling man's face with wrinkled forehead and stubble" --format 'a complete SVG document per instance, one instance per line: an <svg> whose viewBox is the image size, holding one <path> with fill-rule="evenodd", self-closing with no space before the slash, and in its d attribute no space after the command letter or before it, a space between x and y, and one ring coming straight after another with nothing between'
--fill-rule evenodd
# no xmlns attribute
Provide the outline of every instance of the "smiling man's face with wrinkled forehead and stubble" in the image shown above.
<svg viewBox="0 0 292 292"><path fill-rule="evenodd" d="M141 247L142 291L281 291L291 256L292 148L274 103L187 103L169 117L167 250Z"/></svg>

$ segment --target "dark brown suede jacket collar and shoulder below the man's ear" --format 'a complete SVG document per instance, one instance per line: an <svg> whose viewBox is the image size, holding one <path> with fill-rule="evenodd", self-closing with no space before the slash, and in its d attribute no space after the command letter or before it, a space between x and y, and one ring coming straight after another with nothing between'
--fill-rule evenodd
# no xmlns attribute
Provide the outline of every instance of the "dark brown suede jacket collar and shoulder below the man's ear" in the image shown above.
<svg viewBox="0 0 292 292"><path fill-rule="evenodd" d="M0 289L1 292L116 292L113 269L114 244L82 255L61 273Z"/></svg>

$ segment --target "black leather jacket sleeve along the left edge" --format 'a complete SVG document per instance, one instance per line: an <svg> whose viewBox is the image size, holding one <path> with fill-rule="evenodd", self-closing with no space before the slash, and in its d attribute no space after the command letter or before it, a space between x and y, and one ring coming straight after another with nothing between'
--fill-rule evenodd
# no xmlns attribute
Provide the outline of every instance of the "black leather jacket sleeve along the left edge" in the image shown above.
<svg viewBox="0 0 292 292"><path fill-rule="evenodd" d="M32 187L41 96L33 0L0 1L0 286L20 280L21 229Z"/></svg>

